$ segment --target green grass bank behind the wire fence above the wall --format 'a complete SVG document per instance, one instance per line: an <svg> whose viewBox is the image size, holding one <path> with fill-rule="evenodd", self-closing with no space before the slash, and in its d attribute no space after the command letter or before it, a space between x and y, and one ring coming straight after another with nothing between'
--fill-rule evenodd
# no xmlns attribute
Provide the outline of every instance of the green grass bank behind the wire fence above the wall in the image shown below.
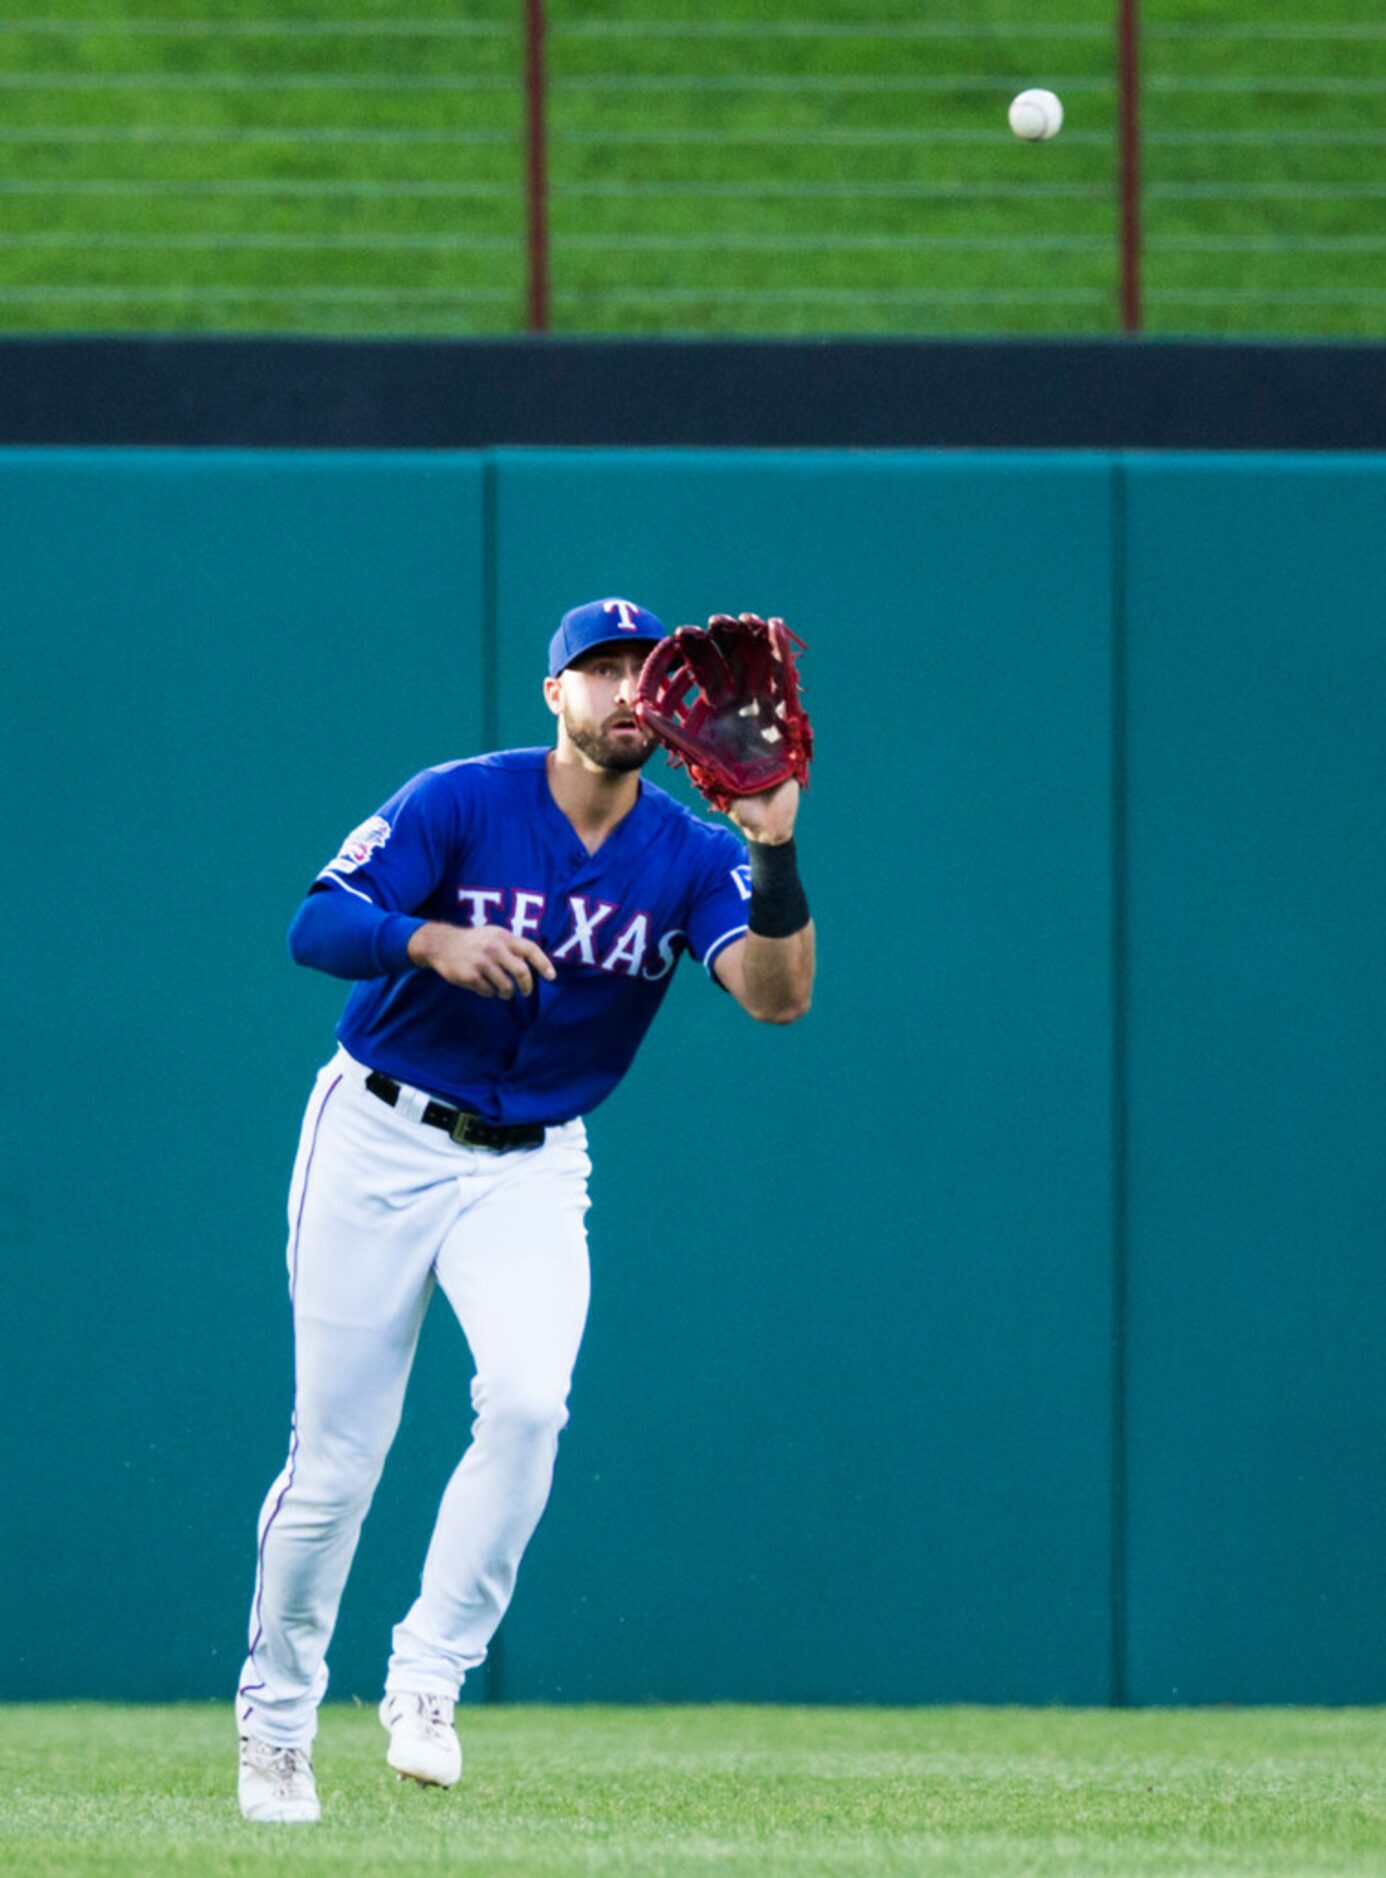
<svg viewBox="0 0 1386 1878"><path fill-rule="evenodd" d="M1110 0L550 0L554 329L1108 332ZM0 21L0 327L524 325L518 0ZM1386 332L1378 0L1144 0L1155 332ZM808 30L808 24L817 30ZM1055 88L1020 145L1010 94Z"/></svg>

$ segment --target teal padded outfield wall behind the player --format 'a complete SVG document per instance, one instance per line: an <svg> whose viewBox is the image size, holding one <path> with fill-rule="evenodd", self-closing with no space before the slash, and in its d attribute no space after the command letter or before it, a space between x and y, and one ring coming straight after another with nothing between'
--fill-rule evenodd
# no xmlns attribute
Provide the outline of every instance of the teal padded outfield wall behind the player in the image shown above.
<svg viewBox="0 0 1386 1878"><path fill-rule="evenodd" d="M229 1692L342 999L289 915L627 592L808 640L821 986L685 965L592 1119L468 1694L1386 1700L1386 458L0 451L0 1696ZM436 1303L338 1698L468 1375Z"/></svg>

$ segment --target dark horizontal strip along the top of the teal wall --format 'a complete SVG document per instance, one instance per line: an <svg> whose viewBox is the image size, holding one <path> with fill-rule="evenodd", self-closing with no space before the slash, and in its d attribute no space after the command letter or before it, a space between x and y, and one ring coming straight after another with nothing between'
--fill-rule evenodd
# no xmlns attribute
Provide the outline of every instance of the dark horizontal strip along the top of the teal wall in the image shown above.
<svg viewBox="0 0 1386 1878"><path fill-rule="evenodd" d="M1386 346L0 340L0 443L1386 449Z"/></svg>

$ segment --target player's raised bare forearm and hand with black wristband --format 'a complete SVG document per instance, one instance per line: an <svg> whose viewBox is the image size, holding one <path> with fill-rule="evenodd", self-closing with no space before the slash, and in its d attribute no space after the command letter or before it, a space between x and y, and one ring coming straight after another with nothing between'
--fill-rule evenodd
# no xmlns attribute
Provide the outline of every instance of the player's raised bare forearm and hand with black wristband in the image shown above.
<svg viewBox="0 0 1386 1878"><path fill-rule="evenodd" d="M727 809L751 856L749 931L725 947L712 969L761 1024L794 1024L813 1001L813 920L794 851L798 796L791 777Z"/></svg>

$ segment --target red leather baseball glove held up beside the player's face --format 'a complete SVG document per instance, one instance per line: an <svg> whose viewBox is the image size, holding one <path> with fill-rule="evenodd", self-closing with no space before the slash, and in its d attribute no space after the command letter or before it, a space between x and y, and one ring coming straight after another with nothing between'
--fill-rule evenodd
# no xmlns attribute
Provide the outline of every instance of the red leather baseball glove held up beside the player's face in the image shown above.
<svg viewBox="0 0 1386 1878"><path fill-rule="evenodd" d="M802 640L783 620L714 612L706 629L680 625L640 672L635 716L687 764L714 809L796 776L808 787L813 725L798 697Z"/></svg>

